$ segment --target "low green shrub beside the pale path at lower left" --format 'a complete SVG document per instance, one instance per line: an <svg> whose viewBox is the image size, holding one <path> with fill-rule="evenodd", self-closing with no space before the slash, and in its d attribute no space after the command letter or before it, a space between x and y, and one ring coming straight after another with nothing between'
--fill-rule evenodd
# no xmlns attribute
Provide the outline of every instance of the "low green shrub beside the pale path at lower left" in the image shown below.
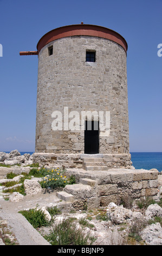
<svg viewBox="0 0 162 256"><path fill-rule="evenodd" d="M29 223L33 225L34 228L40 228L42 226L49 225L49 221L40 209L35 208L24 210L20 211L20 214L22 214L29 221Z"/></svg>

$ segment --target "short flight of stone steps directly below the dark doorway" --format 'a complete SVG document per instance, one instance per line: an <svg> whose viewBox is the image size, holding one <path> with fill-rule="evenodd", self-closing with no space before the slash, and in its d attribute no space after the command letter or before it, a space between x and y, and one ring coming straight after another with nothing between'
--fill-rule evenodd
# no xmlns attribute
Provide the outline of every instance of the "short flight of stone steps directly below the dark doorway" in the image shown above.
<svg viewBox="0 0 162 256"><path fill-rule="evenodd" d="M82 163L85 170L108 170L102 157L83 156Z"/></svg>

